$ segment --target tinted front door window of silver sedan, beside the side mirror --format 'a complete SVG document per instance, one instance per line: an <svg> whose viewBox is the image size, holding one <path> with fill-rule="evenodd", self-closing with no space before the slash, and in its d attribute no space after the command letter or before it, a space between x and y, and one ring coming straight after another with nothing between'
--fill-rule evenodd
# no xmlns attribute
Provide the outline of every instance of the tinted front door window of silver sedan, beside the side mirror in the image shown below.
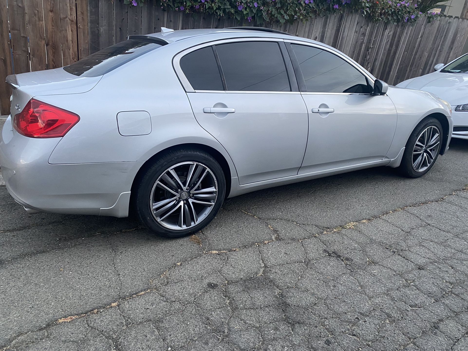
<svg viewBox="0 0 468 351"><path fill-rule="evenodd" d="M292 44L292 48L308 92L370 93L364 75L344 59L311 46Z"/></svg>

